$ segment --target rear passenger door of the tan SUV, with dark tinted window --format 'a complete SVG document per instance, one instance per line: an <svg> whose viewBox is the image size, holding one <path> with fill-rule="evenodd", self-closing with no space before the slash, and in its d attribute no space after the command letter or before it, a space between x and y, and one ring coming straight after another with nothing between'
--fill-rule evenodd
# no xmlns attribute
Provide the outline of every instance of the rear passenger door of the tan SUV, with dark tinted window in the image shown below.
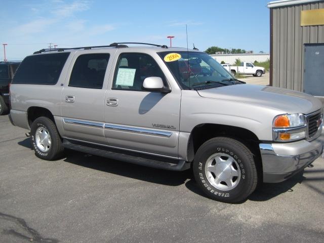
<svg viewBox="0 0 324 243"><path fill-rule="evenodd" d="M61 96L64 136L106 143L103 107L111 53L76 53L71 63Z"/></svg>

